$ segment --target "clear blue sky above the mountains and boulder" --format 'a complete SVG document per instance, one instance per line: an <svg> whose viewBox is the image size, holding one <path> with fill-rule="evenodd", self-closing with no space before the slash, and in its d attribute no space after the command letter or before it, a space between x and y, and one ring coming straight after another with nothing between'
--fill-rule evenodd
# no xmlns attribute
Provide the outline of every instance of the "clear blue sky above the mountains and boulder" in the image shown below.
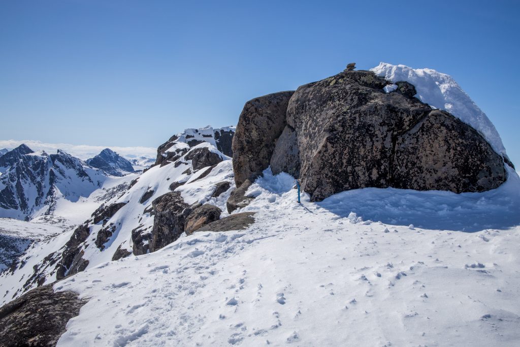
<svg viewBox="0 0 520 347"><path fill-rule="evenodd" d="M357 62L448 73L520 166L518 1L2 1L0 139L157 147Z"/></svg>

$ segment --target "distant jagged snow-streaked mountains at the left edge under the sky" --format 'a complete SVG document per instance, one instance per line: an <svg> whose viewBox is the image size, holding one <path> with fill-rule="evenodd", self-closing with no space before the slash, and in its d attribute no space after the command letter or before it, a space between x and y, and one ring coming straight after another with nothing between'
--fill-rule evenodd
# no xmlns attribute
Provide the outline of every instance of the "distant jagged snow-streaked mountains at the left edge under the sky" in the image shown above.
<svg viewBox="0 0 520 347"><path fill-rule="evenodd" d="M60 199L88 197L109 176L134 172L132 163L106 148L83 161L58 150L33 151L27 145L2 150L0 156L0 217L29 220L53 214Z"/></svg>

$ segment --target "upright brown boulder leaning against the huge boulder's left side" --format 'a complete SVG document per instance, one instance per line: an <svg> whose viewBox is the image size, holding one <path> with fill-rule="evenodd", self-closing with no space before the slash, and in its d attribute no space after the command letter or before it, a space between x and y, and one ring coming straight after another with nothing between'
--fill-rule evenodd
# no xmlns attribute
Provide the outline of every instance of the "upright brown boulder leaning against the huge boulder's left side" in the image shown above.
<svg viewBox="0 0 520 347"><path fill-rule="evenodd" d="M293 94L269 94L245 103L232 144L237 187L246 179L254 181L269 166L276 139L287 124L285 112Z"/></svg>

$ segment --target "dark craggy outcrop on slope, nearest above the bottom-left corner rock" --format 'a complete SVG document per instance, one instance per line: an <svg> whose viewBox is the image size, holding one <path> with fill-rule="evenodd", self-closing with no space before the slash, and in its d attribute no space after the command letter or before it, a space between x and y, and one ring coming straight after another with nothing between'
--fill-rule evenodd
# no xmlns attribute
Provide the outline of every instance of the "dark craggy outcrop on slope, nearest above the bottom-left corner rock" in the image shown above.
<svg viewBox="0 0 520 347"><path fill-rule="evenodd" d="M82 259L83 250L81 245L89 235L90 228L88 224L80 225L74 230L71 238L65 244L61 260L56 266L57 280L83 271L87 267L88 260Z"/></svg>

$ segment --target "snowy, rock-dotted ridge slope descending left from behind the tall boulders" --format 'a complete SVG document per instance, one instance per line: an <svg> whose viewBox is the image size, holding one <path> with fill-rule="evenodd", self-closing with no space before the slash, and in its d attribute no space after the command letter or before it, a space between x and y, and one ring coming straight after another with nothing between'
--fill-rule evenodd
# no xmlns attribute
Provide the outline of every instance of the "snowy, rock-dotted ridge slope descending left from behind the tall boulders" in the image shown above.
<svg viewBox="0 0 520 347"><path fill-rule="evenodd" d="M153 226L151 202L170 192L170 185L173 183L183 183L175 190L180 192L186 203L211 203L226 211L226 200L231 189L218 197L212 197L212 195L216 189L216 183L228 181L230 187L234 187L231 158L223 155L209 142L203 142L190 148L188 144L179 142L180 140L184 139L178 139L172 147L183 148L185 152L175 163L155 165L144 173L107 177L101 188L92 192L88 198L80 198L76 202L66 199L58 200L56 214L63 216L67 221L74 221L75 224L88 225L90 235L82 244L82 258L89 262L87 269L111 261L118 249L132 252L133 231L137 230L137 233L143 235L150 232ZM222 162L211 168L209 173L206 171L210 168L194 170L191 160L185 158L191 151L203 148L207 148L223 159ZM205 174L204 177L202 177L203 174ZM129 187L131 181L132 184ZM147 192L152 193L147 199L143 199ZM114 203L125 203L125 205L105 223L96 224L93 222L91 214L101 203L104 203L105 206ZM38 219L43 217L45 216L38 217ZM107 226L114 226L114 229L107 242L103 243L103 248L100 249L94 241L100 230ZM31 266L20 266L20 263L15 271L0 275L0 305L15 299L26 290L34 288L37 283L48 284L56 280L57 262L61 259L61 254L66 249L65 244L71 238L72 232L73 228L57 237L56 240L38 242L34 248L21 257L23 262L31 264ZM27 282L29 278L32 280ZM21 288L22 285L23 288ZM13 295L14 293L16 294Z"/></svg>

